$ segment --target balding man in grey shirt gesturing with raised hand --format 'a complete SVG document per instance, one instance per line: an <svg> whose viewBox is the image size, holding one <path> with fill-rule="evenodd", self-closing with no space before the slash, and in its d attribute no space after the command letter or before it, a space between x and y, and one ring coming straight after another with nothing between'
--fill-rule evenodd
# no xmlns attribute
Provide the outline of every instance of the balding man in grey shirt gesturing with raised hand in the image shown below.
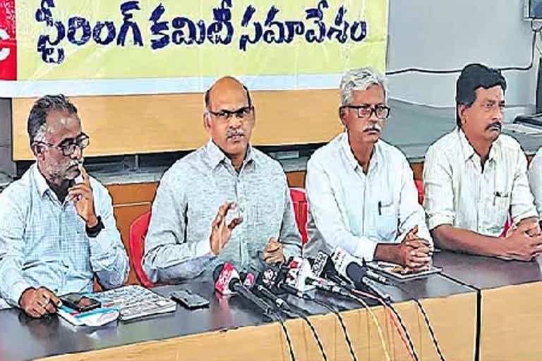
<svg viewBox="0 0 542 361"><path fill-rule="evenodd" d="M153 282L210 278L221 262L261 269L299 255L286 176L251 147L255 109L244 85L219 79L205 93L204 147L169 169L157 189L143 269Z"/></svg>

